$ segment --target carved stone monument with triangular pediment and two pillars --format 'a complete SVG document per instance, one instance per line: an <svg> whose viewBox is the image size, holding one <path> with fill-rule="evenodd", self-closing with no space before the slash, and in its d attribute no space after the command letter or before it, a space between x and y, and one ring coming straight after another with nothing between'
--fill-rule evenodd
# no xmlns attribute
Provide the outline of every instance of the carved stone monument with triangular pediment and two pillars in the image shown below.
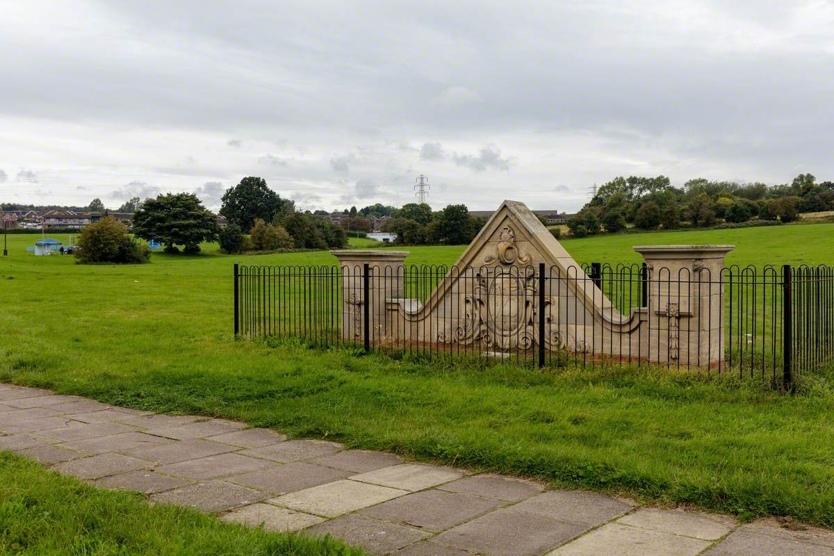
<svg viewBox="0 0 834 556"><path fill-rule="evenodd" d="M621 314L524 203L505 201L425 301L404 295L419 274L404 265L407 252L334 252L342 333L358 340L367 328L374 344L500 354L541 343L550 353L714 366L724 353L721 268L731 249L636 247L647 299Z"/></svg>

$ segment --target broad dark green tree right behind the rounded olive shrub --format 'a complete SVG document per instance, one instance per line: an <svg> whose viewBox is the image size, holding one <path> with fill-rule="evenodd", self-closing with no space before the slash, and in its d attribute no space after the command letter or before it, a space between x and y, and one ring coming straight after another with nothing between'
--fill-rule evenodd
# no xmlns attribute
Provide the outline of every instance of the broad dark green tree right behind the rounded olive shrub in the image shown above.
<svg viewBox="0 0 834 556"><path fill-rule="evenodd" d="M217 217L193 193L167 193L136 211L133 233L164 243L168 252L182 245L186 253L199 253L201 242L217 239Z"/></svg>

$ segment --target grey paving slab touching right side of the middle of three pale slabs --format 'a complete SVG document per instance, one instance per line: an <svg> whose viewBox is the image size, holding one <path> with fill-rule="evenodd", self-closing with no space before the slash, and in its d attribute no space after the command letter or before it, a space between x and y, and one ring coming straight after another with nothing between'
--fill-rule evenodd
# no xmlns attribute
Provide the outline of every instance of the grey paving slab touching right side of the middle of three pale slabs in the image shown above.
<svg viewBox="0 0 834 556"><path fill-rule="evenodd" d="M472 494L423 490L365 508L369 518L403 523L429 531L443 531L500 507L505 502Z"/></svg>

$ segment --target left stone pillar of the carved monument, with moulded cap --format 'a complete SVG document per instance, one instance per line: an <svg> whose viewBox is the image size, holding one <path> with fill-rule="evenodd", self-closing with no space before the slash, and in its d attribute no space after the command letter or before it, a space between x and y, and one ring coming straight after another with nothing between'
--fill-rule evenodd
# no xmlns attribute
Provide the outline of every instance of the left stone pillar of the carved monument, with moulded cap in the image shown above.
<svg viewBox="0 0 834 556"><path fill-rule="evenodd" d="M371 342L388 336L385 300L403 297L404 261L408 251L346 249L332 251L342 268L342 338L364 341L364 303L369 303ZM369 266L368 299L364 298L364 265Z"/></svg>

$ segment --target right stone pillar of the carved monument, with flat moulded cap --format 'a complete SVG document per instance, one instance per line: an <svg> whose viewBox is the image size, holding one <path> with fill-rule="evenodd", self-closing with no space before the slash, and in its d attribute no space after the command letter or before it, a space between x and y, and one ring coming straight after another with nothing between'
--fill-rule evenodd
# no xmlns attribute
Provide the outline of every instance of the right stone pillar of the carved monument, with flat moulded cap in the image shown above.
<svg viewBox="0 0 834 556"><path fill-rule="evenodd" d="M649 270L648 329L641 342L651 363L716 365L724 357L721 270L732 245L635 247Z"/></svg>

